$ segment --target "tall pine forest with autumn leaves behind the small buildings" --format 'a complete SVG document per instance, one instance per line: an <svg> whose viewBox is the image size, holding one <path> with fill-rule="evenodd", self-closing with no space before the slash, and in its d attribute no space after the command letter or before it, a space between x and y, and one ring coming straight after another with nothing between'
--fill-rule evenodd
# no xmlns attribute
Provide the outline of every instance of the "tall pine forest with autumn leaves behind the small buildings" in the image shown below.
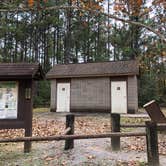
<svg viewBox="0 0 166 166"><path fill-rule="evenodd" d="M165 0L0 0L0 62L54 64L137 59L139 106L166 106ZM37 83L34 106L49 106Z"/></svg>

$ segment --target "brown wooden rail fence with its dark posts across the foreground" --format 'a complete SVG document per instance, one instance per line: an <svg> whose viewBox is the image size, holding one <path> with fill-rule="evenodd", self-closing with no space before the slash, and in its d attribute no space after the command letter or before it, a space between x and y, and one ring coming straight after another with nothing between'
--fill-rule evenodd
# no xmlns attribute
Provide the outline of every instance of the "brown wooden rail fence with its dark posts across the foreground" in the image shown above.
<svg viewBox="0 0 166 166"><path fill-rule="evenodd" d="M31 141L60 141L65 140L65 150L74 148L75 139L95 139L95 138L111 138L112 150L120 150L120 137L134 137L144 136L146 137L147 145L147 159L150 166L159 165L158 154L158 139L157 131L166 130L166 124L158 125L155 122L147 121L145 125L120 125L120 115L111 114L111 127L112 132L106 134L90 134L90 135L75 135L74 134L74 121L75 115L66 115L66 130L63 135L58 136L46 136L46 137L20 137L20 138L5 138L0 139L0 143L7 142L31 142ZM120 132L121 127L146 127L145 132ZM24 147L25 148L25 147ZM24 152L30 152L30 148L26 146Z"/></svg>

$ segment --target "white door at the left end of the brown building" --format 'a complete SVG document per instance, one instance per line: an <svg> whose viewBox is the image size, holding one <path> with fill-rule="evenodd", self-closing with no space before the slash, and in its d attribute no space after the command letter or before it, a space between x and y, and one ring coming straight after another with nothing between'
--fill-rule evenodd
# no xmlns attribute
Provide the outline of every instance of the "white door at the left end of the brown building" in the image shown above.
<svg viewBox="0 0 166 166"><path fill-rule="evenodd" d="M57 112L70 111L70 83L57 85Z"/></svg>

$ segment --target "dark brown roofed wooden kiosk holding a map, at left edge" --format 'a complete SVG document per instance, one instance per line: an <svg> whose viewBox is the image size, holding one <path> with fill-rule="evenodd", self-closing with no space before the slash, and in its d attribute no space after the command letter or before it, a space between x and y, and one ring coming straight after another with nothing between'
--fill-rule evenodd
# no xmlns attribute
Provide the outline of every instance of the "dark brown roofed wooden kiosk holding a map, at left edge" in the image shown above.
<svg viewBox="0 0 166 166"><path fill-rule="evenodd" d="M0 63L0 129L25 129L32 136L33 85L44 78L39 64ZM24 142L29 152L31 142Z"/></svg>

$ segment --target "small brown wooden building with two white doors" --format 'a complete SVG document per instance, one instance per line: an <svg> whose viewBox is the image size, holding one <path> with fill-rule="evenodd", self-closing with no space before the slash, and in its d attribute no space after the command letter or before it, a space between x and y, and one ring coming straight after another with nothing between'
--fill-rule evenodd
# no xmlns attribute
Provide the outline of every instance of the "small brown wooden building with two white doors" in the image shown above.
<svg viewBox="0 0 166 166"><path fill-rule="evenodd" d="M135 60L55 65L47 73L51 111L135 113L138 74Z"/></svg>

